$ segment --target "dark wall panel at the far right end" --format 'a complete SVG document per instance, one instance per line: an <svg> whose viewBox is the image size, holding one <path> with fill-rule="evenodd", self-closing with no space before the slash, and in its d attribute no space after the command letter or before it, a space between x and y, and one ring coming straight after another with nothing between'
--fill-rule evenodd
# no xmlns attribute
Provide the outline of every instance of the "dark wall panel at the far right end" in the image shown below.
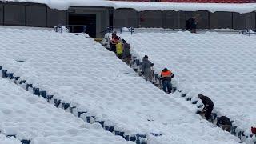
<svg viewBox="0 0 256 144"><path fill-rule="evenodd" d="M237 30L255 29L255 13L233 13L233 27Z"/></svg>

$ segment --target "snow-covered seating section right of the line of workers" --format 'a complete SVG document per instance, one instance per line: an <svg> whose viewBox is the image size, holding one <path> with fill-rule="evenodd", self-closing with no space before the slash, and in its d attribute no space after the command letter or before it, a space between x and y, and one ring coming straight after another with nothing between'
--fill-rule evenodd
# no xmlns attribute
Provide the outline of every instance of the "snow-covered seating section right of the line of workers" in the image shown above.
<svg viewBox="0 0 256 144"><path fill-rule="evenodd" d="M139 58L149 56L158 73L164 67L172 70L178 89L194 98L206 94L214 110L234 120L246 134L256 126L255 36L187 31L121 35Z"/></svg>

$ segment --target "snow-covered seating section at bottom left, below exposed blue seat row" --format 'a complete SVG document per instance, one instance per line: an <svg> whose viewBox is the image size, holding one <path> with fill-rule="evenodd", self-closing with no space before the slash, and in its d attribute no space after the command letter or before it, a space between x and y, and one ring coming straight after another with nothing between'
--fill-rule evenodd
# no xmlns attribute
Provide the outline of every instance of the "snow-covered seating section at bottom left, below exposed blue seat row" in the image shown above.
<svg viewBox="0 0 256 144"><path fill-rule="evenodd" d="M134 143L103 130L97 126L100 124L87 124L2 78L0 98L2 133L16 135L19 140L31 140L31 144ZM2 144L7 140L0 137Z"/></svg>

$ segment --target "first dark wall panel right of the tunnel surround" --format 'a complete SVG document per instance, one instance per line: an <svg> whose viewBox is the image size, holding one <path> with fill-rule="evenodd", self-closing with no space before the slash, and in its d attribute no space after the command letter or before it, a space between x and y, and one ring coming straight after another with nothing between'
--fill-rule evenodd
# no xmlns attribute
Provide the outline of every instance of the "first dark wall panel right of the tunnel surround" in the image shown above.
<svg viewBox="0 0 256 144"><path fill-rule="evenodd" d="M114 27L138 27L138 12L133 9L114 10Z"/></svg>

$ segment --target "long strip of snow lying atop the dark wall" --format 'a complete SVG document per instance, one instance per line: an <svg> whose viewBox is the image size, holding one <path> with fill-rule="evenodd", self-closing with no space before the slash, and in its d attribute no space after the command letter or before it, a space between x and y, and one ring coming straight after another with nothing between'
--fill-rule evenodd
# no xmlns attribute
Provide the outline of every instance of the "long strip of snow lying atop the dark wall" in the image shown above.
<svg viewBox="0 0 256 144"><path fill-rule="evenodd" d="M52 9L67 10L70 6L101 6L114 9L197 11L208 10L249 13L256 10L255 3L178 3L178 2L117 2L106 0L5 0L5 2L33 2L46 4Z"/></svg>

